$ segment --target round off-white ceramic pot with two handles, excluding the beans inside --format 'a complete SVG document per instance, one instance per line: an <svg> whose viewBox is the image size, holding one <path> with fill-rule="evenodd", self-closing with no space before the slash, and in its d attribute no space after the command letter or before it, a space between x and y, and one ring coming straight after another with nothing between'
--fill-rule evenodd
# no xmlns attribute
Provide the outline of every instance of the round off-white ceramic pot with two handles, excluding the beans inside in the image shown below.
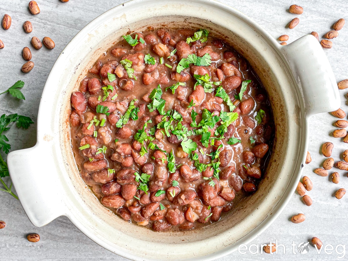
<svg viewBox="0 0 348 261"><path fill-rule="evenodd" d="M71 93L121 35L150 25L200 27L220 35L250 62L274 113L275 142L258 191L200 230L153 232L123 221L89 191L71 151ZM275 220L300 179L308 118L339 104L332 69L312 35L281 46L250 18L219 2L134 0L94 19L65 47L42 93L37 144L9 153L7 162L23 208L37 227L65 215L96 243L129 259L212 260L250 242Z"/></svg>

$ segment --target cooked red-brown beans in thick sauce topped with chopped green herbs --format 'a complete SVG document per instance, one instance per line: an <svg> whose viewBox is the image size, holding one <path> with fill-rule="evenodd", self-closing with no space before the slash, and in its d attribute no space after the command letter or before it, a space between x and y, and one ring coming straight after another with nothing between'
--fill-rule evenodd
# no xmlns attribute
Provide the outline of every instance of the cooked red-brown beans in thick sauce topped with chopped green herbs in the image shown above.
<svg viewBox="0 0 348 261"><path fill-rule="evenodd" d="M264 176L274 134L267 94L206 30L125 35L71 104L81 177L128 222L155 231L211 224Z"/></svg>

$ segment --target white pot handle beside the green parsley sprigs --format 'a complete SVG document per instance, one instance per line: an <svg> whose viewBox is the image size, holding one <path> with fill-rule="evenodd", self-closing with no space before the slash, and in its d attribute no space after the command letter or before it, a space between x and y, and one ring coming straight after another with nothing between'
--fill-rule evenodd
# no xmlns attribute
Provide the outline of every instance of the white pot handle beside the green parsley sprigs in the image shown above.
<svg viewBox="0 0 348 261"><path fill-rule="evenodd" d="M55 157L53 153L48 153L52 150L42 147L36 144L33 148L12 151L7 156L9 173L18 198L36 227L45 226L66 213L61 183L58 174L53 174L57 172Z"/></svg>

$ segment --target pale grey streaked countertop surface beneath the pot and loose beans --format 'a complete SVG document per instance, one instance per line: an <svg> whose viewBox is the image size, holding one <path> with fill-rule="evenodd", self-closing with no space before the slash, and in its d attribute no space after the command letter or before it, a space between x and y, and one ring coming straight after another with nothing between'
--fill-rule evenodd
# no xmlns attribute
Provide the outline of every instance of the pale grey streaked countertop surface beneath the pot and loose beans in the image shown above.
<svg viewBox="0 0 348 261"><path fill-rule="evenodd" d="M30 14L27 4L29 0L1 0L0 16L9 14L12 17L12 25L8 31L0 28L0 39L5 43L5 48L0 50L0 91L3 92L17 80L25 81L22 89L26 100L16 101L8 94L0 96L0 112L21 113L30 116L35 122L40 102L42 89L56 58L70 39L79 32L87 23L106 10L122 3L122 0L70 0L62 3L59 0L37 0L41 13L37 16ZM221 0L251 17L256 23L266 29L273 37L288 34L291 42L299 37L317 31L319 36L329 30L339 18L348 18L346 0L324 1L308 0L293 2L290 0ZM287 8L292 4L301 5L304 13L299 16L300 24L295 29L286 28L286 24L295 17ZM156 8L154 6L154 8ZM33 32L26 34L23 31L23 22L29 20L33 24ZM337 81L348 78L348 24L339 32L339 37L333 40L334 46L325 50L331 63ZM48 50L43 47L40 50L31 48L35 63L34 69L27 74L21 72L24 64L22 49L30 45L31 37L42 39L49 36L55 41L56 47ZM341 108L348 112L347 91L341 90ZM341 139L334 139L330 134L335 129L333 122L336 119L329 113L317 114L309 119L309 148L312 162L304 166L303 175L308 175L314 183L312 191L308 195L313 199L313 205L307 207L294 193L290 203L279 215L276 221L264 231L251 244L266 244L270 240L278 239L278 243L286 246L286 254L274 255L251 254L244 255L234 252L223 260L333 260L337 254L326 254L324 250L318 254L313 246L309 253L300 254L295 250L292 253L292 242L299 244L307 242L313 236L320 238L324 244L331 244L335 248L339 244L348 242L348 196L341 200L334 198L333 193L339 188L348 188L347 173L341 174L339 184L333 184L328 177L320 177L313 173L313 169L319 167L324 157L319 153L323 142L334 143L333 157L339 159L341 153L348 145ZM6 134L12 145L12 150L32 147L36 142L36 126L29 130L16 129L15 127ZM331 173L332 171L330 171ZM48 170L49 174L49 170ZM23 173L25 175L25 173ZM7 180L9 183L9 180ZM293 224L289 218L293 214L304 213L306 221ZM0 191L0 220L7 223L5 229L0 230L0 260L126 260L112 254L82 234L66 217L58 217L48 225L34 227L18 200L5 192ZM26 235L32 232L40 234L38 243L30 243ZM260 248L260 247L259 247ZM297 248L297 247L295 247ZM256 251L256 246L251 248ZM337 251L342 252L342 247ZM330 253L330 250L327 249ZM343 259L347 259L348 253Z"/></svg>

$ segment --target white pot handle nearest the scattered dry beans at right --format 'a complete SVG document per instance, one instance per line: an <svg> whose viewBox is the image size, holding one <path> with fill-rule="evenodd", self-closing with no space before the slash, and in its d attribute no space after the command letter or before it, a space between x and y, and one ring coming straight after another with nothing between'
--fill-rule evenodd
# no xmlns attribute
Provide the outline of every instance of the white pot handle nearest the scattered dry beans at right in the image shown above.
<svg viewBox="0 0 348 261"><path fill-rule="evenodd" d="M279 49L300 87L306 115L337 110L341 105L337 82L318 40L309 34Z"/></svg>

